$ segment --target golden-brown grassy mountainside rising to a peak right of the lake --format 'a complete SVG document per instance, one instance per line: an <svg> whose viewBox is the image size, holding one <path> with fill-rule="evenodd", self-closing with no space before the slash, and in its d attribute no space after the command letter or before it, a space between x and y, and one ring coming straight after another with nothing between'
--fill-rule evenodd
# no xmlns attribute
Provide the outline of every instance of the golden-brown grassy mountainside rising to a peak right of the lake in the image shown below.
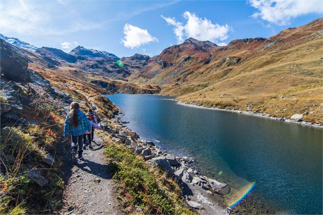
<svg viewBox="0 0 323 215"><path fill-rule="evenodd" d="M305 113L305 121L322 123L322 29L320 18L269 39L233 40L225 47L185 42L165 49L129 79L160 84L161 94L188 103L277 117Z"/></svg>

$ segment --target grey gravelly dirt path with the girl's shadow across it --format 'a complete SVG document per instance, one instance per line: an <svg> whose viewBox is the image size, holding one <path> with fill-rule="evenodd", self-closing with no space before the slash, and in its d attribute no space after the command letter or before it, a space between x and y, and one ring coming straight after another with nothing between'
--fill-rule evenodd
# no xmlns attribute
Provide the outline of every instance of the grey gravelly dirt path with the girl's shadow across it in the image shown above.
<svg viewBox="0 0 323 215"><path fill-rule="evenodd" d="M97 135L94 149L84 150L84 160L70 162L67 169L61 214L120 214L115 199L114 181L104 162L104 145Z"/></svg>

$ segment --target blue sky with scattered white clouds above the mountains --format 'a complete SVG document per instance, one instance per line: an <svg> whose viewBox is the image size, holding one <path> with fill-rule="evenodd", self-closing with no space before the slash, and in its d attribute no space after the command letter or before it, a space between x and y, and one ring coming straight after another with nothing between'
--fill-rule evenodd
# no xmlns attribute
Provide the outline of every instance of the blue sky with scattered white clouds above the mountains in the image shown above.
<svg viewBox="0 0 323 215"><path fill-rule="evenodd" d="M323 15L323 1L0 1L0 33L65 52L78 45L159 54L187 38L226 45L269 38Z"/></svg>

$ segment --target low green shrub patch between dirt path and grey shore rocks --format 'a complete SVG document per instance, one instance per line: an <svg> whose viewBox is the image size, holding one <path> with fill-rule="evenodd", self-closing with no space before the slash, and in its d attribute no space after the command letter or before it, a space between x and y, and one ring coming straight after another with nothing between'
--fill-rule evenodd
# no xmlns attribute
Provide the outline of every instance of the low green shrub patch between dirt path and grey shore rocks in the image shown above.
<svg viewBox="0 0 323 215"><path fill-rule="evenodd" d="M118 192L125 212L139 207L143 214L195 214L180 198L179 186L165 172L151 169L131 149L111 144L104 154L113 178L120 182Z"/></svg>

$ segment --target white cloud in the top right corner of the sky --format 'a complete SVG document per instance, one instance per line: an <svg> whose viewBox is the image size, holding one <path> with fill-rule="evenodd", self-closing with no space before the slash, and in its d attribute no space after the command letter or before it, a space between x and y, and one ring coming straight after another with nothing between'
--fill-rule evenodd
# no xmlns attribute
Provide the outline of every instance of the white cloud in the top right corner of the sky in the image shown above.
<svg viewBox="0 0 323 215"><path fill-rule="evenodd" d="M252 14L253 18L277 25L286 25L290 20L310 13L323 13L321 0L300 1L300 0L248 0L248 3L258 9Z"/></svg>

